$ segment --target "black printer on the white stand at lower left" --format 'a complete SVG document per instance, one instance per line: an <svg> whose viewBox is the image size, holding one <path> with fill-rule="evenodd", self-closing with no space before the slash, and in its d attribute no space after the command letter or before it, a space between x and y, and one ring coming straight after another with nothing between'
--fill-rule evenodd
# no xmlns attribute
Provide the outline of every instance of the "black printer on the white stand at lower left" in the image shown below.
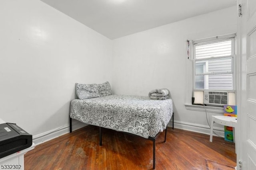
<svg viewBox="0 0 256 170"><path fill-rule="evenodd" d="M32 135L15 123L0 124L0 158L32 146Z"/></svg>

